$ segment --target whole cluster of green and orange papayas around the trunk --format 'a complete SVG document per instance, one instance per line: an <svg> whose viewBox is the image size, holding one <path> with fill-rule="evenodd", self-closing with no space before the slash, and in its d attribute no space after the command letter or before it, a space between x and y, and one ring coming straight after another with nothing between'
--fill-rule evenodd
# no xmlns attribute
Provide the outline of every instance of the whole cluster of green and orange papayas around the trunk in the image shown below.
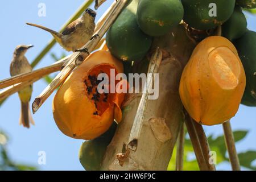
<svg viewBox="0 0 256 182"><path fill-rule="evenodd" d="M124 94L98 93L97 75L109 74L110 68L122 73L123 64L139 63L150 53L154 39L169 35L181 24L188 36L200 37L194 39L197 46L179 86L189 115L204 125L216 125L234 117L241 103L256 106L256 32L247 30L242 11L255 7L254 0L129 1L106 34L108 48L104 49L109 52L90 55L67 78L53 101L54 118L64 134L92 139L80 150L85 169L100 169L116 126L96 137L107 131L114 119L122 119Z"/></svg>

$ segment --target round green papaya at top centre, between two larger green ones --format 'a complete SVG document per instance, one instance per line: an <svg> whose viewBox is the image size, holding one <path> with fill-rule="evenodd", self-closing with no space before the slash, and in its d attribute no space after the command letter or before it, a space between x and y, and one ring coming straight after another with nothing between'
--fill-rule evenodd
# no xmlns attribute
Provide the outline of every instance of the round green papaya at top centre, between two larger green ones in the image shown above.
<svg viewBox="0 0 256 182"><path fill-rule="evenodd" d="M183 15L180 0L141 0L137 9L137 22L145 34L162 36L177 26Z"/></svg>

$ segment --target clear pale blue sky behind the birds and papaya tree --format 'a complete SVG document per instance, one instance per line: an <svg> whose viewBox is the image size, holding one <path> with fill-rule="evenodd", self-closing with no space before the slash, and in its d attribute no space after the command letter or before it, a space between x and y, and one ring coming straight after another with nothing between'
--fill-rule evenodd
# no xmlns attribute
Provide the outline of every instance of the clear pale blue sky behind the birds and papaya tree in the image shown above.
<svg viewBox="0 0 256 182"><path fill-rule="evenodd" d="M13 56L14 48L18 44L33 44L26 56L28 60L33 60L43 47L46 46L52 36L37 28L26 26L25 22L37 23L59 30L66 20L77 10L84 0L76 1L5 1L1 3L0 22L5 25L1 28L1 67L0 80L9 77L9 66ZM97 19L100 18L104 10L112 1L107 1L98 10ZM38 16L39 3L46 4L46 17ZM248 28L256 31L256 16L247 15ZM59 45L55 45L51 52L61 55L65 52ZM52 64L53 60L49 54L37 65L36 68ZM38 81L34 84L32 98L38 96L47 86L46 82ZM33 115L36 126L31 129L24 129L18 125L20 102L18 94L11 96L0 108L0 129L10 136L8 150L15 162L27 163L38 166L42 170L82 170L78 159L78 151L82 140L76 140L63 135L52 117L52 98L45 102L40 110ZM256 107L240 107L236 117L232 119L234 130L249 130L246 139L237 144L239 152L246 150L256 150ZM205 127L206 133L220 135L222 126ZM46 152L46 165L38 164L38 152ZM228 164L221 164L219 169L230 169Z"/></svg>

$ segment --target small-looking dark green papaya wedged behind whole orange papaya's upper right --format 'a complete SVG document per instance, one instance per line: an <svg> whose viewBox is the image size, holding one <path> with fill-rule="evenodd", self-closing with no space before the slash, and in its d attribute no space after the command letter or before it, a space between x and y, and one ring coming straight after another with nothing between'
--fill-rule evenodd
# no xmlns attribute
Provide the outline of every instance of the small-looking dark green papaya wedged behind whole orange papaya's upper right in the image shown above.
<svg viewBox="0 0 256 182"><path fill-rule="evenodd" d="M247 31L247 21L240 6L236 6L232 16L222 25L222 36L233 41Z"/></svg>

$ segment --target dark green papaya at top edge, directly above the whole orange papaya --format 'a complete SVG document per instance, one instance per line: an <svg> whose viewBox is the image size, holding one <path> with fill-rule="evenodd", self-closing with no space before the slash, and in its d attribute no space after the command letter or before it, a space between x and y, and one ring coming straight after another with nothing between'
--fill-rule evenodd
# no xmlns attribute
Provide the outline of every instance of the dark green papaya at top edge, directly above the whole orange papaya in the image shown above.
<svg viewBox="0 0 256 182"><path fill-rule="evenodd" d="M236 0L181 0L183 20L198 30L208 30L226 22L232 15Z"/></svg>

